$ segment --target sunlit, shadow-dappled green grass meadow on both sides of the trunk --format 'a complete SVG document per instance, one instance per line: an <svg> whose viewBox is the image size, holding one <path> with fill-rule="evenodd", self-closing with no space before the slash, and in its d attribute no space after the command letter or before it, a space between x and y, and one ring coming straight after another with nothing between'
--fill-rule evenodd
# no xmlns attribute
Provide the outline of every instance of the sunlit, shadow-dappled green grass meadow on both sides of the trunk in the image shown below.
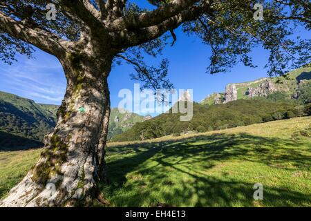
<svg viewBox="0 0 311 221"><path fill-rule="evenodd" d="M222 131L112 143L110 206L311 206L311 117ZM0 153L0 195L40 150ZM263 200L253 186L263 184Z"/></svg>

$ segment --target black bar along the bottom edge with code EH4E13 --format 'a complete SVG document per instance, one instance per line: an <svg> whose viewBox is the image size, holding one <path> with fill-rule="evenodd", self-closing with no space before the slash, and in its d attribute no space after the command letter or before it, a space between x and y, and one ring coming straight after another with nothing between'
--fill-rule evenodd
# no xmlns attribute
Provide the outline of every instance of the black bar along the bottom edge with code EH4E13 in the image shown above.
<svg viewBox="0 0 311 221"><path fill-rule="evenodd" d="M310 215L310 208L0 208L1 218L15 215L31 220L62 220L78 218L78 220L266 220L277 215L280 218L294 218ZM273 214L275 213L275 214ZM3 219L5 220L5 219ZM71 219L70 219L71 220Z"/></svg>

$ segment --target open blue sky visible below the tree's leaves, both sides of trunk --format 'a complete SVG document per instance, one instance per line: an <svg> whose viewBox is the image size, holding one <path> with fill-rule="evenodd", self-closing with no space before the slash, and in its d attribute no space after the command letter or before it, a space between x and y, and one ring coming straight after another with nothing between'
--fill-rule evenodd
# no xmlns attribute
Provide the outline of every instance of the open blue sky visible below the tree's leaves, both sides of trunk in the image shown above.
<svg viewBox="0 0 311 221"><path fill-rule="evenodd" d="M268 53L262 48L255 48L252 52L258 68L238 65L229 73L209 75L206 73L211 55L209 46L202 44L197 37L188 37L180 28L175 32L178 40L173 47L167 46L163 51L164 57L170 61L169 79L176 89L193 89L196 102L211 93L223 92L229 83L267 77L263 66L267 63ZM301 35L305 37L310 32L302 32ZM62 66L55 57L39 49L34 57L35 59L27 59L25 56L18 56L18 61L11 66L0 61L0 90L33 99L38 103L61 104L66 88ZM148 64L156 65L158 61L147 57ZM133 90L134 83L137 83L129 77L133 72L133 67L129 64L113 67L109 76L112 107L116 107L122 99L117 96L121 89Z"/></svg>

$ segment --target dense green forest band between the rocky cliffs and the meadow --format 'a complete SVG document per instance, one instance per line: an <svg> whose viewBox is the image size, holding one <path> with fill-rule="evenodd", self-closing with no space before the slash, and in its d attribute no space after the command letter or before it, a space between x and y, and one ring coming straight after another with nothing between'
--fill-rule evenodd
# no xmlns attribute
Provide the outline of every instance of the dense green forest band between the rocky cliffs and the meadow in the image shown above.
<svg viewBox="0 0 311 221"><path fill-rule="evenodd" d="M113 142L147 140L165 135L182 135L245 126L278 119L310 115L310 104L284 99L240 99L227 104L206 105L194 103L194 117L181 122L180 114L164 113L135 124L133 128L113 137Z"/></svg>

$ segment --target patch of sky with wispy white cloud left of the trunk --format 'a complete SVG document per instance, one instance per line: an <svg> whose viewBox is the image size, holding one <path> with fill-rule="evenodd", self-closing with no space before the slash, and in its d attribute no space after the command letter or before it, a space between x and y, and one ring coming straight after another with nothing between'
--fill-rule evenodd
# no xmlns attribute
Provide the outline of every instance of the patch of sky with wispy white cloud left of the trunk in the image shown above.
<svg viewBox="0 0 311 221"><path fill-rule="evenodd" d="M50 55L1 64L0 79L0 90L45 104L61 104L66 89L62 66Z"/></svg>

